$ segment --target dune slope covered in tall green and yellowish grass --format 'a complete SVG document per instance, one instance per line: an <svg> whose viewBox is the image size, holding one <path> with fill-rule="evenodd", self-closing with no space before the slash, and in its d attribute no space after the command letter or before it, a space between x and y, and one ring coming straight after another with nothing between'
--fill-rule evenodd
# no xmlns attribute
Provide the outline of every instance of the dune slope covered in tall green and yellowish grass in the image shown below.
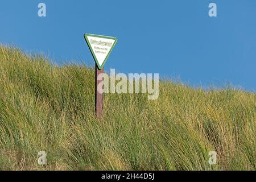
<svg viewBox="0 0 256 182"><path fill-rule="evenodd" d="M92 69L1 46L0 83L0 169L256 169L255 93L162 81L155 101L106 94L98 121Z"/></svg>

